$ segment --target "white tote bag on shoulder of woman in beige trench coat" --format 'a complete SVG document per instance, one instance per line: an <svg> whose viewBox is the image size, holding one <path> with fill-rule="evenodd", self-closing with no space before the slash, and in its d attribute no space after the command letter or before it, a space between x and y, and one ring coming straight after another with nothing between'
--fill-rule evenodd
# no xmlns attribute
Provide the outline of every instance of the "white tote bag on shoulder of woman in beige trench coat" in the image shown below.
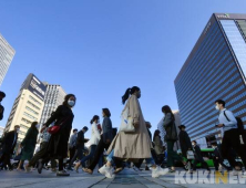
<svg viewBox="0 0 246 188"><path fill-rule="evenodd" d="M129 116L129 108L122 113L120 132L134 133L133 118Z"/></svg>

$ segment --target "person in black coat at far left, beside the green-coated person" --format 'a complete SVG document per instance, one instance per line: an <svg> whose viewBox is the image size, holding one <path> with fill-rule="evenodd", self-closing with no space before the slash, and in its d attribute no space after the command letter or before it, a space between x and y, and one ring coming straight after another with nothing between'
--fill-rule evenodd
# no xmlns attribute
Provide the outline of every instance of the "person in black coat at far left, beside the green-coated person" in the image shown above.
<svg viewBox="0 0 246 188"><path fill-rule="evenodd" d="M18 132L20 126L16 125L14 130L6 133L2 140L2 156L0 158L0 164L3 163L8 165L9 169L12 170L12 165L10 164L10 157L13 155L13 149L17 145Z"/></svg>

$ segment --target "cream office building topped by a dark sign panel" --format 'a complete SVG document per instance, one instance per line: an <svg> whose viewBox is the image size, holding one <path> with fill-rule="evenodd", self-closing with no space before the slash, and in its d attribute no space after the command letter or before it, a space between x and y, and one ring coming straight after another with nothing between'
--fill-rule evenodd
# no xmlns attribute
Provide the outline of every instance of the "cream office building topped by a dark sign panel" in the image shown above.
<svg viewBox="0 0 246 188"><path fill-rule="evenodd" d="M20 125L19 142L24 138L31 123L40 121L45 91L45 85L33 74L29 74L22 84L6 125L6 132L12 130L14 125Z"/></svg>

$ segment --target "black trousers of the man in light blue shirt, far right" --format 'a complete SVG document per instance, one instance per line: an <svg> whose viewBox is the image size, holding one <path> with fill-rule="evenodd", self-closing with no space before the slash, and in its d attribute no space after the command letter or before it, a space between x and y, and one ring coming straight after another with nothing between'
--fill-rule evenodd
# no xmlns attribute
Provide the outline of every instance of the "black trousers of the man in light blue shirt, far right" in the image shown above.
<svg viewBox="0 0 246 188"><path fill-rule="evenodd" d="M240 144L237 128L226 130L222 140L222 156L223 158L228 159L230 167L235 168L236 161L235 157L230 153L232 149L242 158L246 168L246 147L245 144Z"/></svg>

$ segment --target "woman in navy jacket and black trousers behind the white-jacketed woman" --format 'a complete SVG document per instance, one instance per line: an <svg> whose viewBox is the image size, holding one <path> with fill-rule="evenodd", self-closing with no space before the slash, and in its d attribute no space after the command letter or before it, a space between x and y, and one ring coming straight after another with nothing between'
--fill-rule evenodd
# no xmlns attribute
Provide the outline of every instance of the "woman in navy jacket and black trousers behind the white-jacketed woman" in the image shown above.
<svg viewBox="0 0 246 188"><path fill-rule="evenodd" d="M111 113L109 108L102 109L102 116L103 116L103 123L102 123L102 135L101 139L99 142L99 145L95 150L94 158L91 163L91 165L88 168L83 168L84 171L92 174L96 164L100 161L104 149L107 149L110 147L111 142L113 140L113 128L112 128L112 122L111 122ZM79 167L76 166L76 169Z"/></svg>

